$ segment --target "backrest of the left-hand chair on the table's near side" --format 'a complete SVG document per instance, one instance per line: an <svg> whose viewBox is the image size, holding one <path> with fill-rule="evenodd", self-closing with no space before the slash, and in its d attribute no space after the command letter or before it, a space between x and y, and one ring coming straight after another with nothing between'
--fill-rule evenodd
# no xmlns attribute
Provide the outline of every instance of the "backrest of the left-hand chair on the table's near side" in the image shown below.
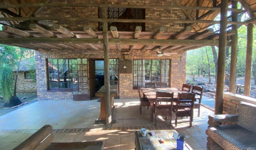
<svg viewBox="0 0 256 150"><path fill-rule="evenodd" d="M158 102L171 102L170 105L166 105L167 107L170 107L170 110L172 110L172 103L173 103L173 92L156 92L156 102L155 102L155 111L157 111L157 106L159 105ZM162 105L162 104L161 104Z"/></svg>

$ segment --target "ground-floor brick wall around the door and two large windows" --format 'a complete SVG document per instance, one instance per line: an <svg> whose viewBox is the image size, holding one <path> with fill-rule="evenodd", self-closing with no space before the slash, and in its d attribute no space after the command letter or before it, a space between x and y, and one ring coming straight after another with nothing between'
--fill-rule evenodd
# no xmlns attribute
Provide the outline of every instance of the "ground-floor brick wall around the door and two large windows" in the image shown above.
<svg viewBox="0 0 256 150"><path fill-rule="evenodd" d="M175 51L174 51L175 53ZM170 83L171 87L181 89L186 78L186 52L176 51L178 55L163 56L161 59L171 59ZM129 54L129 59L159 59L150 50L133 50ZM47 58L104 58L103 50L37 50L36 55L36 80L38 100L72 100L72 92L50 92L47 91ZM110 50L109 58L123 60L123 56L118 50ZM132 61L133 62L133 61ZM88 65L89 66L89 65ZM120 98L138 98L138 91L133 90L133 73L119 74ZM89 85L90 87L90 85Z"/></svg>

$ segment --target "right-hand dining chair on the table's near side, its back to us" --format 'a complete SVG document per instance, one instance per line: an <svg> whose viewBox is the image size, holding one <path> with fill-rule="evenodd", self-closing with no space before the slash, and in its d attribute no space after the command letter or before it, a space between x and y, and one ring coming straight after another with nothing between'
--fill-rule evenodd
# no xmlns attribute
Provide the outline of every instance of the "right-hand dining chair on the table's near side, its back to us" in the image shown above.
<svg viewBox="0 0 256 150"><path fill-rule="evenodd" d="M172 107L175 116L175 127L177 117L189 117L189 127L192 126L195 93L178 93L176 105Z"/></svg>

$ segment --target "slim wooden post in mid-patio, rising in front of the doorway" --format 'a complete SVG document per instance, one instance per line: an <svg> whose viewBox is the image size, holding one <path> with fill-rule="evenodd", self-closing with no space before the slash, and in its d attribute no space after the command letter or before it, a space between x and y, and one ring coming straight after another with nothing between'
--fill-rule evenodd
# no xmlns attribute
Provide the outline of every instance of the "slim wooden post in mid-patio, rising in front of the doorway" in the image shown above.
<svg viewBox="0 0 256 150"><path fill-rule="evenodd" d="M102 0L107 4L107 0ZM107 18L107 8L102 7L102 18ZM110 82L109 82L109 48L108 48L108 23L103 22L103 51L104 51L104 86L105 86L105 109L106 126L111 126L111 103L110 103Z"/></svg>

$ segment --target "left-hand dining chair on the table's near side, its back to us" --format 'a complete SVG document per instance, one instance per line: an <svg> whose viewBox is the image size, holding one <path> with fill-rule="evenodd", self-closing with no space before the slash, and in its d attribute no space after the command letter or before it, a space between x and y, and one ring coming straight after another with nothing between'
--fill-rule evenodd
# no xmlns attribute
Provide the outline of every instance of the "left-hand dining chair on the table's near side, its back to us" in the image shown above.
<svg viewBox="0 0 256 150"><path fill-rule="evenodd" d="M170 102L167 104L158 104L158 102ZM172 104L173 104L173 92L156 92L156 102L154 105L155 114L155 126L157 125L157 116L168 116L170 117L171 126L172 123Z"/></svg>

